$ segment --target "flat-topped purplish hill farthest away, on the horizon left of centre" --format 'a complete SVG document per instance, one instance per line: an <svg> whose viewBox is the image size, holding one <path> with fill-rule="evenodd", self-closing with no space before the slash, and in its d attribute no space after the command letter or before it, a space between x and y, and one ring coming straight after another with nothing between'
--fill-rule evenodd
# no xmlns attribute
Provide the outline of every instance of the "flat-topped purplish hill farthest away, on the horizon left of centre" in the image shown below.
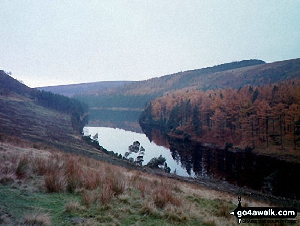
<svg viewBox="0 0 300 226"><path fill-rule="evenodd" d="M125 84L134 83L134 81L99 81L95 83L79 83L70 85L60 85L60 86L44 86L38 87L39 90L50 91L53 93L58 93L64 96L72 97L76 94L82 92L88 92L93 90L103 90L112 87L119 87Z"/></svg>

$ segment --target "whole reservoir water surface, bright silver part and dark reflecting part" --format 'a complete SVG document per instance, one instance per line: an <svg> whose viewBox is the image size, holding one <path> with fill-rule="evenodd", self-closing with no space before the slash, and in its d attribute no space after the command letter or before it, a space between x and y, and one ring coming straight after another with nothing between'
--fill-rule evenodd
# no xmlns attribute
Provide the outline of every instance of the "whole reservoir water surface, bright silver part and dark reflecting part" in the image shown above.
<svg viewBox="0 0 300 226"><path fill-rule="evenodd" d="M247 152L206 148L199 143L165 137L158 130L145 134L105 127L85 127L85 135L99 135L99 143L124 156L139 141L145 148L144 163L163 155L171 172L181 176L220 179L277 196L300 200L300 165ZM129 157L134 159L137 153Z"/></svg>

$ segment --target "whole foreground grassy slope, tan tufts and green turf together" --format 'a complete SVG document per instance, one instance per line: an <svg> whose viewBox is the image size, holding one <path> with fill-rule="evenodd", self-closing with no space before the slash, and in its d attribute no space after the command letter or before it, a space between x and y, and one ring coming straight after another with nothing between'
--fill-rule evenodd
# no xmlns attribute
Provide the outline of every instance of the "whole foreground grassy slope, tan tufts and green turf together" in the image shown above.
<svg viewBox="0 0 300 226"><path fill-rule="evenodd" d="M30 143L26 147L18 145L0 143L0 223L236 224L235 217L228 215L236 208L235 195L52 149L34 149ZM41 164L41 159L48 163ZM72 165L76 168L70 170ZM62 181L59 192L50 192L55 183L47 183L49 175ZM74 190L68 192L74 175ZM245 196L242 202L246 206L266 206Z"/></svg>

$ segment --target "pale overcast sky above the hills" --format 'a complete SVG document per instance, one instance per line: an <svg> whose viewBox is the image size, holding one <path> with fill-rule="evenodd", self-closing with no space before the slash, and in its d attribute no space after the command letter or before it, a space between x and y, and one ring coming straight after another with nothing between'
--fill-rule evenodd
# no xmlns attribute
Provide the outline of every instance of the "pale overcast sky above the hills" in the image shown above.
<svg viewBox="0 0 300 226"><path fill-rule="evenodd" d="M300 57L300 1L0 0L0 69L30 87Z"/></svg>

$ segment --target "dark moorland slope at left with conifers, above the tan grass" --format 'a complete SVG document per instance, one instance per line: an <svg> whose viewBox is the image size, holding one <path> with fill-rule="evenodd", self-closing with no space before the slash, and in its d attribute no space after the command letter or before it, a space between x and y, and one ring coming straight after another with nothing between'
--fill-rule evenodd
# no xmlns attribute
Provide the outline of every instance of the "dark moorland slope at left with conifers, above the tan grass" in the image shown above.
<svg viewBox="0 0 300 226"><path fill-rule="evenodd" d="M0 133L57 141L64 139L63 130L80 134L86 112L87 106L77 99L29 88L0 71Z"/></svg>

